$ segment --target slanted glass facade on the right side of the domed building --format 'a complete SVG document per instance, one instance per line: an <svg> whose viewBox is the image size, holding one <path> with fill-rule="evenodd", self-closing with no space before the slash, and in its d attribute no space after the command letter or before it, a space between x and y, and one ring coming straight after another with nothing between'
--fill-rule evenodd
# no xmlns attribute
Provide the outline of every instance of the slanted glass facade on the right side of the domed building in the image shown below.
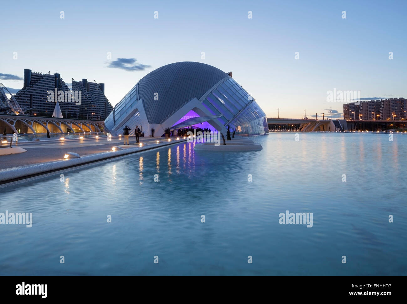
<svg viewBox="0 0 407 304"><path fill-rule="evenodd" d="M228 78L201 100L225 126L236 129L236 134L263 134L268 132L266 114L233 78Z"/></svg>

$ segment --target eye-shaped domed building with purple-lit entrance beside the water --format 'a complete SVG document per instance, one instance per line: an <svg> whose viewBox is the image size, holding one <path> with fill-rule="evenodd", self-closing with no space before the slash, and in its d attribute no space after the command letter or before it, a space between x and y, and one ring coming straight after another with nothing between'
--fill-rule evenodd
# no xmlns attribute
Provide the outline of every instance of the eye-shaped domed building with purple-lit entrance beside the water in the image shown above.
<svg viewBox="0 0 407 304"><path fill-rule="evenodd" d="M165 129L188 126L236 134L268 132L266 115L233 78L200 62L176 62L144 76L114 106L105 130L119 135L125 125L134 134L141 126L144 136L161 136Z"/></svg>

